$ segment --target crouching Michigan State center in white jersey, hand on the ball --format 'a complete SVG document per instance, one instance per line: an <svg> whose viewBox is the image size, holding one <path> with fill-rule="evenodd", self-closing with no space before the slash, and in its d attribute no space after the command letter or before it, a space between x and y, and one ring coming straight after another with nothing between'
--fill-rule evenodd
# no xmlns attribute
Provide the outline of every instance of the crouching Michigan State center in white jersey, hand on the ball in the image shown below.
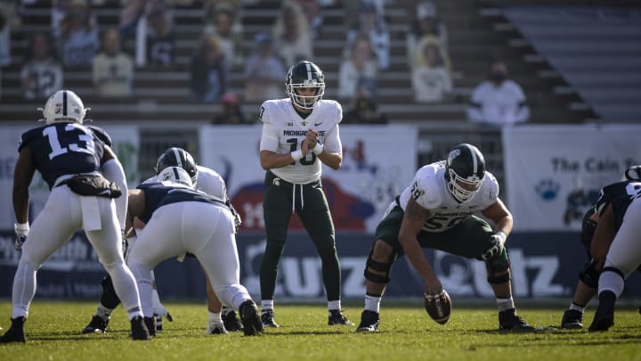
<svg viewBox="0 0 641 361"><path fill-rule="evenodd" d="M481 212L494 227L474 216ZM516 315L510 261L504 244L512 215L499 199L496 178L485 171L483 154L458 144L447 160L418 169L412 183L393 201L378 224L365 267L365 309L357 332L377 332L380 301L396 258L407 255L425 282L425 297L441 297L442 284L422 248L482 260L499 306L499 329L533 330Z"/></svg>

